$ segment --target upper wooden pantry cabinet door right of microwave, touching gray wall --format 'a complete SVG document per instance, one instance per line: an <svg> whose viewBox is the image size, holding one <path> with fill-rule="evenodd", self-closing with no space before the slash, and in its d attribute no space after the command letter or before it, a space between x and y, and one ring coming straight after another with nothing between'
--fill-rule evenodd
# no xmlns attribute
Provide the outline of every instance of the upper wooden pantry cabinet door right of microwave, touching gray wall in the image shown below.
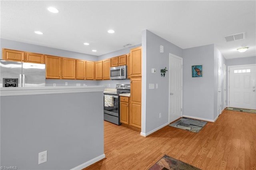
<svg viewBox="0 0 256 170"><path fill-rule="evenodd" d="M141 76L141 47L130 50L130 75L131 77Z"/></svg>

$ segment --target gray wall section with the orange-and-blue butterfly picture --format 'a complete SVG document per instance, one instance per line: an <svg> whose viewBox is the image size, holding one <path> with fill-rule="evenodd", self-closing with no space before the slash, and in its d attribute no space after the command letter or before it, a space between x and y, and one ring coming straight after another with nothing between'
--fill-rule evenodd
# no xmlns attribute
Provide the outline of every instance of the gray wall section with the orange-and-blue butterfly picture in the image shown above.
<svg viewBox="0 0 256 170"><path fill-rule="evenodd" d="M183 50L184 117L214 120L215 79L218 76L218 72L214 73L215 60L213 44ZM202 77L192 77L192 65L202 65Z"/></svg>

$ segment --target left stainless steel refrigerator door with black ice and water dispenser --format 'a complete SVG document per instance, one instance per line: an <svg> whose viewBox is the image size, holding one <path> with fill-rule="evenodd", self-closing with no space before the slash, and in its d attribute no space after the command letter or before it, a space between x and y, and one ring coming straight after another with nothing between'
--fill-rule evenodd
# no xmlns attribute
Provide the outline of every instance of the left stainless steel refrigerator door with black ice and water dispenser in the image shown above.
<svg viewBox="0 0 256 170"><path fill-rule="evenodd" d="M21 87L22 63L0 60L0 87L4 87L3 79L18 79L18 87Z"/></svg>

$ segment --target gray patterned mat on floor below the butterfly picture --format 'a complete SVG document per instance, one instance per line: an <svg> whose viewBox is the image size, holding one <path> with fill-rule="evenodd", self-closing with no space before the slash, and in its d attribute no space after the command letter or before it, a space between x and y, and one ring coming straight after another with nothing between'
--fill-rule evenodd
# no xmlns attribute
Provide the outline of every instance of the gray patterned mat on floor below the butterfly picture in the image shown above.
<svg viewBox="0 0 256 170"><path fill-rule="evenodd" d="M202 127L206 125L206 123L207 123L206 121L199 121L199 120L183 117L178 121L170 124L169 126L198 133L202 129Z"/></svg>

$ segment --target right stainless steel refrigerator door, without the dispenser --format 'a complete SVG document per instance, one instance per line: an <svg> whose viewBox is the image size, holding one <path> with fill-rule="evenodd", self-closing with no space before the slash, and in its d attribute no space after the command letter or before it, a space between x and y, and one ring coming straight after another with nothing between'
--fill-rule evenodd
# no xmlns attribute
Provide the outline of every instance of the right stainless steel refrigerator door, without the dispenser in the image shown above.
<svg viewBox="0 0 256 170"><path fill-rule="evenodd" d="M23 87L45 86L45 64L22 63Z"/></svg>

